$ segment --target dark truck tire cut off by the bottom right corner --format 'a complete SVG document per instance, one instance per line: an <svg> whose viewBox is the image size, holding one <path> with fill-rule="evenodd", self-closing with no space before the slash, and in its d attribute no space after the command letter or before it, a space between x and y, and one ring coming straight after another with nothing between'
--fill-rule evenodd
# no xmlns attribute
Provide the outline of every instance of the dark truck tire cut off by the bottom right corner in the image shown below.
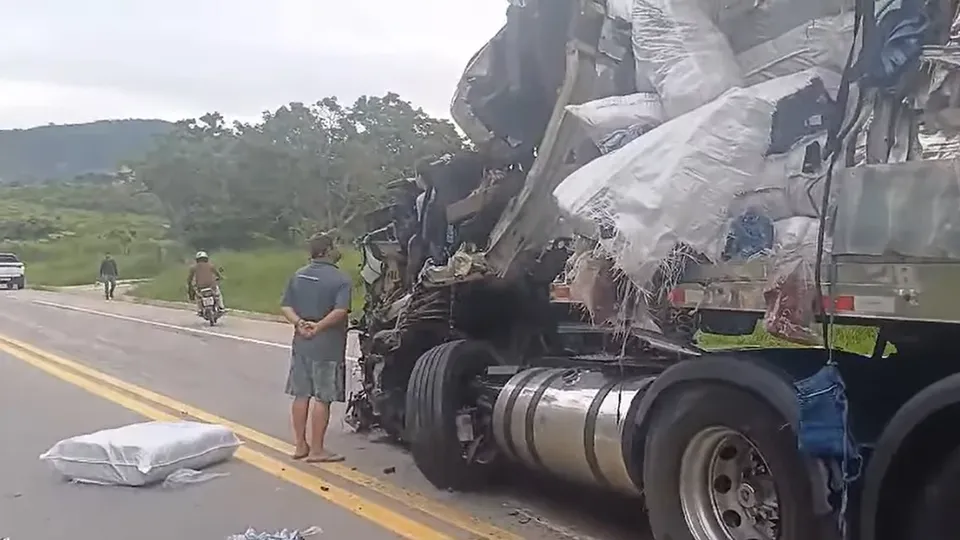
<svg viewBox="0 0 960 540"><path fill-rule="evenodd" d="M947 540L960 530L960 449L927 480L913 506L906 540Z"/></svg>

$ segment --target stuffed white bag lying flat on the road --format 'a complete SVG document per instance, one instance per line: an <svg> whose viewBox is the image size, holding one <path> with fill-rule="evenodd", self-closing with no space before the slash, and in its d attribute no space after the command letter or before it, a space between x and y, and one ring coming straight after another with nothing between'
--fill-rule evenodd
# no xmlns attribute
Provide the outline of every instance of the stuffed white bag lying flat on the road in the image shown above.
<svg viewBox="0 0 960 540"><path fill-rule="evenodd" d="M226 461L240 444L223 426L144 422L64 439L40 459L77 482L143 486Z"/></svg>

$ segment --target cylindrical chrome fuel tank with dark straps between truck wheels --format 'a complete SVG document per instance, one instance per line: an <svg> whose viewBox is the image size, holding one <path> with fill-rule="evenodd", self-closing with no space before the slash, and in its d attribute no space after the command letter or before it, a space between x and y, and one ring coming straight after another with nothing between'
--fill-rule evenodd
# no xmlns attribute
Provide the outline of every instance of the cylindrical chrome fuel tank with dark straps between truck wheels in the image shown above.
<svg viewBox="0 0 960 540"><path fill-rule="evenodd" d="M636 405L655 378L580 368L521 371L497 395L497 445L534 469L639 495L625 452Z"/></svg>

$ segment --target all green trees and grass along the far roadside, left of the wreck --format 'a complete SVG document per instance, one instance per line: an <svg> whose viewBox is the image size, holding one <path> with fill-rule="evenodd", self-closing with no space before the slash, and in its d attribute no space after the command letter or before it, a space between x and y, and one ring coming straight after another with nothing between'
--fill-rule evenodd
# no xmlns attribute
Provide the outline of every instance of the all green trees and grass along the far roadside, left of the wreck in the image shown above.
<svg viewBox="0 0 960 540"><path fill-rule="evenodd" d="M121 152L127 124L89 126L103 136L85 139L84 148ZM449 121L393 93L351 105L332 97L291 103L249 124L209 113L164 124L137 141L136 152L121 152L129 160L114 164L122 165L117 174L79 173L64 181L34 168L0 175L15 182L0 185L0 250L24 260L29 286L92 283L109 251L121 279L152 278L134 295L179 301L186 297L186 265L203 249L225 270L231 307L276 312L287 277L305 262L306 238L335 230L349 241L363 230L363 215L384 199L388 182L412 175L419 159L464 144ZM21 142L31 155L56 146L46 136ZM65 166L102 164L71 158ZM356 279L359 256L349 249L344 255L341 267ZM362 301L358 291L355 306Z"/></svg>

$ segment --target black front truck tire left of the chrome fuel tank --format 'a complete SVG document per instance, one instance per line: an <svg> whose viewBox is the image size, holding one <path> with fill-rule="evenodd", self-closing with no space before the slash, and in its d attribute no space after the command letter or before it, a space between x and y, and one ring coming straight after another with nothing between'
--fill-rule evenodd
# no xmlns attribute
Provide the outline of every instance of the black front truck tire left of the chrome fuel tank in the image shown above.
<svg viewBox="0 0 960 540"><path fill-rule="evenodd" d="M489 477L488 463L465 457L456 422L459 412L471 405L470 379L496 363L482 343L451 341L425 352L410 374L406 437L417 468L440 489L476 489Z"/></svg>

